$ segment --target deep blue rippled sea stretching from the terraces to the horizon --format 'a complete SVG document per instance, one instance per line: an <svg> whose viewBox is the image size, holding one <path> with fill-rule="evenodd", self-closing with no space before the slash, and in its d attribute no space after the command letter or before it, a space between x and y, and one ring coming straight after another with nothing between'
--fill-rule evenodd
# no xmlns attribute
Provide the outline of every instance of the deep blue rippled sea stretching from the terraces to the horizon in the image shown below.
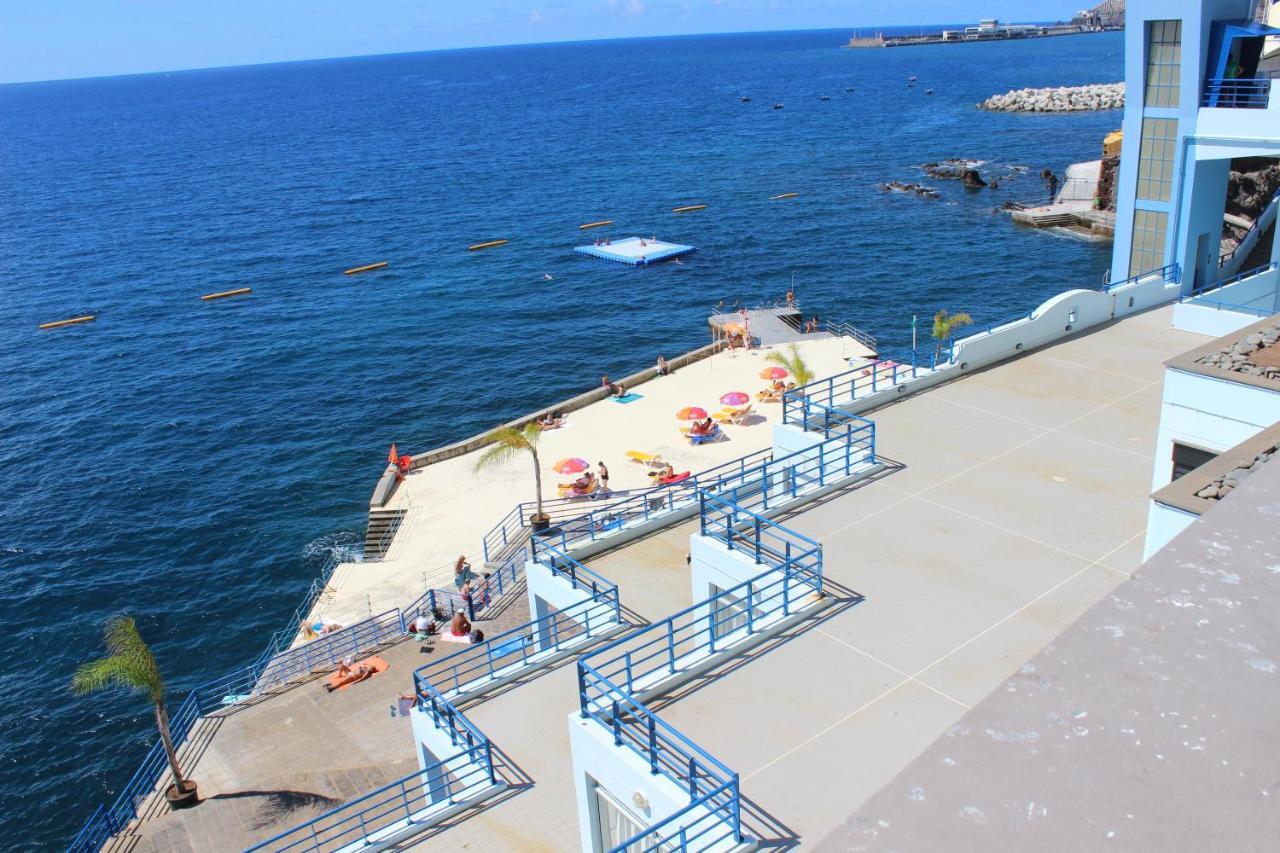
<svg viewBox="0 0 1280 853"><path fill-rule="evenodd" d="M1096 159L1120 115L974 104L1119 79L1119 33L841 50L849 35L0 87L10 845L65 844L154 738L145 699L68 692L102 620L136 615L179 694L243 665L358 539L392 441L420 452L694 348L713 305L792 277L806 307L888 345L913 313L997 319L1101 280L1106 247L993 209ZM1030 173L940 182L938 201L877 188L950 156ZM598 219L699 251L645 269L575 255ZM511 243L466 251L493 238ZM97 321L36 329L82 311Z"/></svg>

